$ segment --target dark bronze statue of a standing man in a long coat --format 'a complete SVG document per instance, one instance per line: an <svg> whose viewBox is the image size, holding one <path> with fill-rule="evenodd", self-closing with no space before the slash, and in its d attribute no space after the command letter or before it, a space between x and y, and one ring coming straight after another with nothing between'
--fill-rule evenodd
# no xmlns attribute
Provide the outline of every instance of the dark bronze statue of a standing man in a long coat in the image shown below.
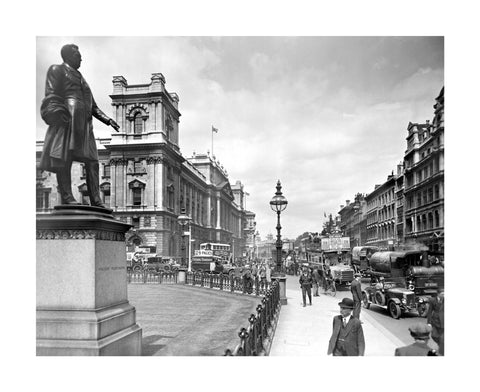
<svg viewBox="0 0 480 392"><path fill-rule="evenodd" d="M77 205L72 195L72 161L83 162L90 204L107 208L100 198L98 152L93 135L92 116L117 132L120 128L95 103L92 91L78 71L82 56L77 45L61 49L63 64L47 72L45 98L40 113L49 125L39 168L57 175L61 204Z"/></svg>

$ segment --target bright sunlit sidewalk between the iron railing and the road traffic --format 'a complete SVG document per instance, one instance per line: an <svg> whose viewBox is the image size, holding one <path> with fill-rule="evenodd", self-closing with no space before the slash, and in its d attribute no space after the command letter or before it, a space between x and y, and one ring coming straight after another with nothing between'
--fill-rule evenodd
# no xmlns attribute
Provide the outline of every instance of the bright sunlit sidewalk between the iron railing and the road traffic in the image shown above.
<svg viewBox="0 0 480 392"><path fill-rule="evenodd" d="M286 294L288 305L282 306L280 311L269 355L326 356L333 317L339 314L338 303L344 297L351 298L350 293L337 292L336 297L312 296L313 305L307 304L305 308L300 289L287 288ZM405 346L363 309L360 320L365 336L365 356L393 356L395 348Z"/></svg>

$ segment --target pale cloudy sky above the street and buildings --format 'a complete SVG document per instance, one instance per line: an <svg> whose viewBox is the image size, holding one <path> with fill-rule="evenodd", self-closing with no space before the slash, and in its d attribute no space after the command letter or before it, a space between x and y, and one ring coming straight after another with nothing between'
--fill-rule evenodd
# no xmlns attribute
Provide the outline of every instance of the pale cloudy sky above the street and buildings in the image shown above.
<svg viewBox="0 0 480 392"><path fill-rule="evenodd" d="M45 75L67 43L110 116L113 76L141 84L161 72L180 99L182 155L211 152L218 129L213 155L244 185L261 237L276 233L277 180L282 236L296 238L396 173L408 123L433 119L444 85L443 37L37 37L37 140Z"/></svg>

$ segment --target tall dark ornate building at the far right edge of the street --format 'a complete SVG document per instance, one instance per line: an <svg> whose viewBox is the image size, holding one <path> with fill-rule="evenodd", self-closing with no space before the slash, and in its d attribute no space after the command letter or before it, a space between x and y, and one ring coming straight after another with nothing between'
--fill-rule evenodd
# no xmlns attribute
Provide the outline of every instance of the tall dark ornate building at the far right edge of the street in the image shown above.
<svg viewBox="0 0 480 392"><path fill-rule="evenodd" d="M409 123L405 152L405 242L444 253L444 88L433 123Z"/></svg>

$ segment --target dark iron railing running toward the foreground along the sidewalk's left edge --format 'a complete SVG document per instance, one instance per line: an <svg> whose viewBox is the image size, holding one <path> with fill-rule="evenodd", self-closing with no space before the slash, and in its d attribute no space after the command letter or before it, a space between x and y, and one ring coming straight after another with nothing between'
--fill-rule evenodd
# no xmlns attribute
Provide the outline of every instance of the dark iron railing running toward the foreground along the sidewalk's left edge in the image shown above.
<svg viewBox="0 0 480 392"><path fill-rule="evenodd" d="M232 351L225 350L225 356L268 355L280 313L280 284L274 280L271 287L257 306L257 314L248 318L248 327L238 333L240 343Z"/></svg>

